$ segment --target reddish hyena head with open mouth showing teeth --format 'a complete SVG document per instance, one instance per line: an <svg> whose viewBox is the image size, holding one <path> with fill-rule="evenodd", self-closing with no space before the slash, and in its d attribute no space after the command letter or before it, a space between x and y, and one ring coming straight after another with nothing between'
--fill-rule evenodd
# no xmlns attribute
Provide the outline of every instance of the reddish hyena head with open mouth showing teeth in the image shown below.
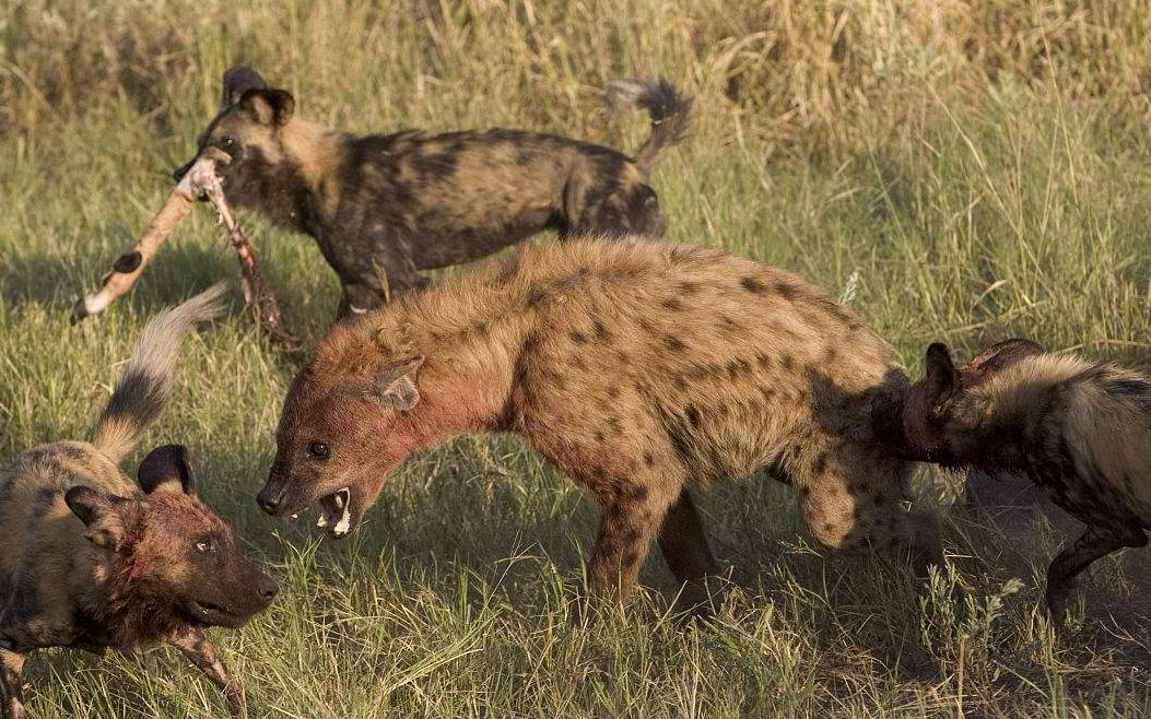
<svg viewBox="0 0 1151 719"><path fill-rule="evenodd" d="M355 529L388 473L417 449L407 413L420 400L422 364L413 357L338 374L305 367L284 399L260 507L285 517L319 502L319 527L336 538Z"/></svg>

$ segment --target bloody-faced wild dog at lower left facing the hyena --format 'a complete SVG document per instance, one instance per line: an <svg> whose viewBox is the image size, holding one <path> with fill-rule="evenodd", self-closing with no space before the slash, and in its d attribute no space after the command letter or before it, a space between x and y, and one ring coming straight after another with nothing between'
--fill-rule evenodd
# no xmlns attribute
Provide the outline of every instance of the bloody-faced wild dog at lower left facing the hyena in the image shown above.
<svg viewBox="0 0 1151 719"><path fill-rule="evenodd" d="M180 345L221 307L222 286L158 315L100 415L96 438L32 448L0 472L0 658L5 716L24 717L21 670L33 649L94 652L166 641L246 716L243 684L205 627L239 627L276 583L241 553L196 496L180 445L153 450L139 483L119 464L163 407Z"/></svg>

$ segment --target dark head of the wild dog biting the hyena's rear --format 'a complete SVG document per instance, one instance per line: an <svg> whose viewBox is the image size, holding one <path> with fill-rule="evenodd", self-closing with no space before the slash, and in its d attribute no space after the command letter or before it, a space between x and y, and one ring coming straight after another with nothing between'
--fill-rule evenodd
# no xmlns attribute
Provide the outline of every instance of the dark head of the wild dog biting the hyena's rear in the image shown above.
<svg viewBox="0 0 1151 719"><path fill-rule="evenodd" d="M912 459L963 464L980 451L975 430L982 419L963 401L967 393L1024 357L1042 353L1043 347L1030 339L1007 339L956 368L947 346L933 343L924 358L923 378L904 397L889 398L874 411L876 434Z"/></svg>

